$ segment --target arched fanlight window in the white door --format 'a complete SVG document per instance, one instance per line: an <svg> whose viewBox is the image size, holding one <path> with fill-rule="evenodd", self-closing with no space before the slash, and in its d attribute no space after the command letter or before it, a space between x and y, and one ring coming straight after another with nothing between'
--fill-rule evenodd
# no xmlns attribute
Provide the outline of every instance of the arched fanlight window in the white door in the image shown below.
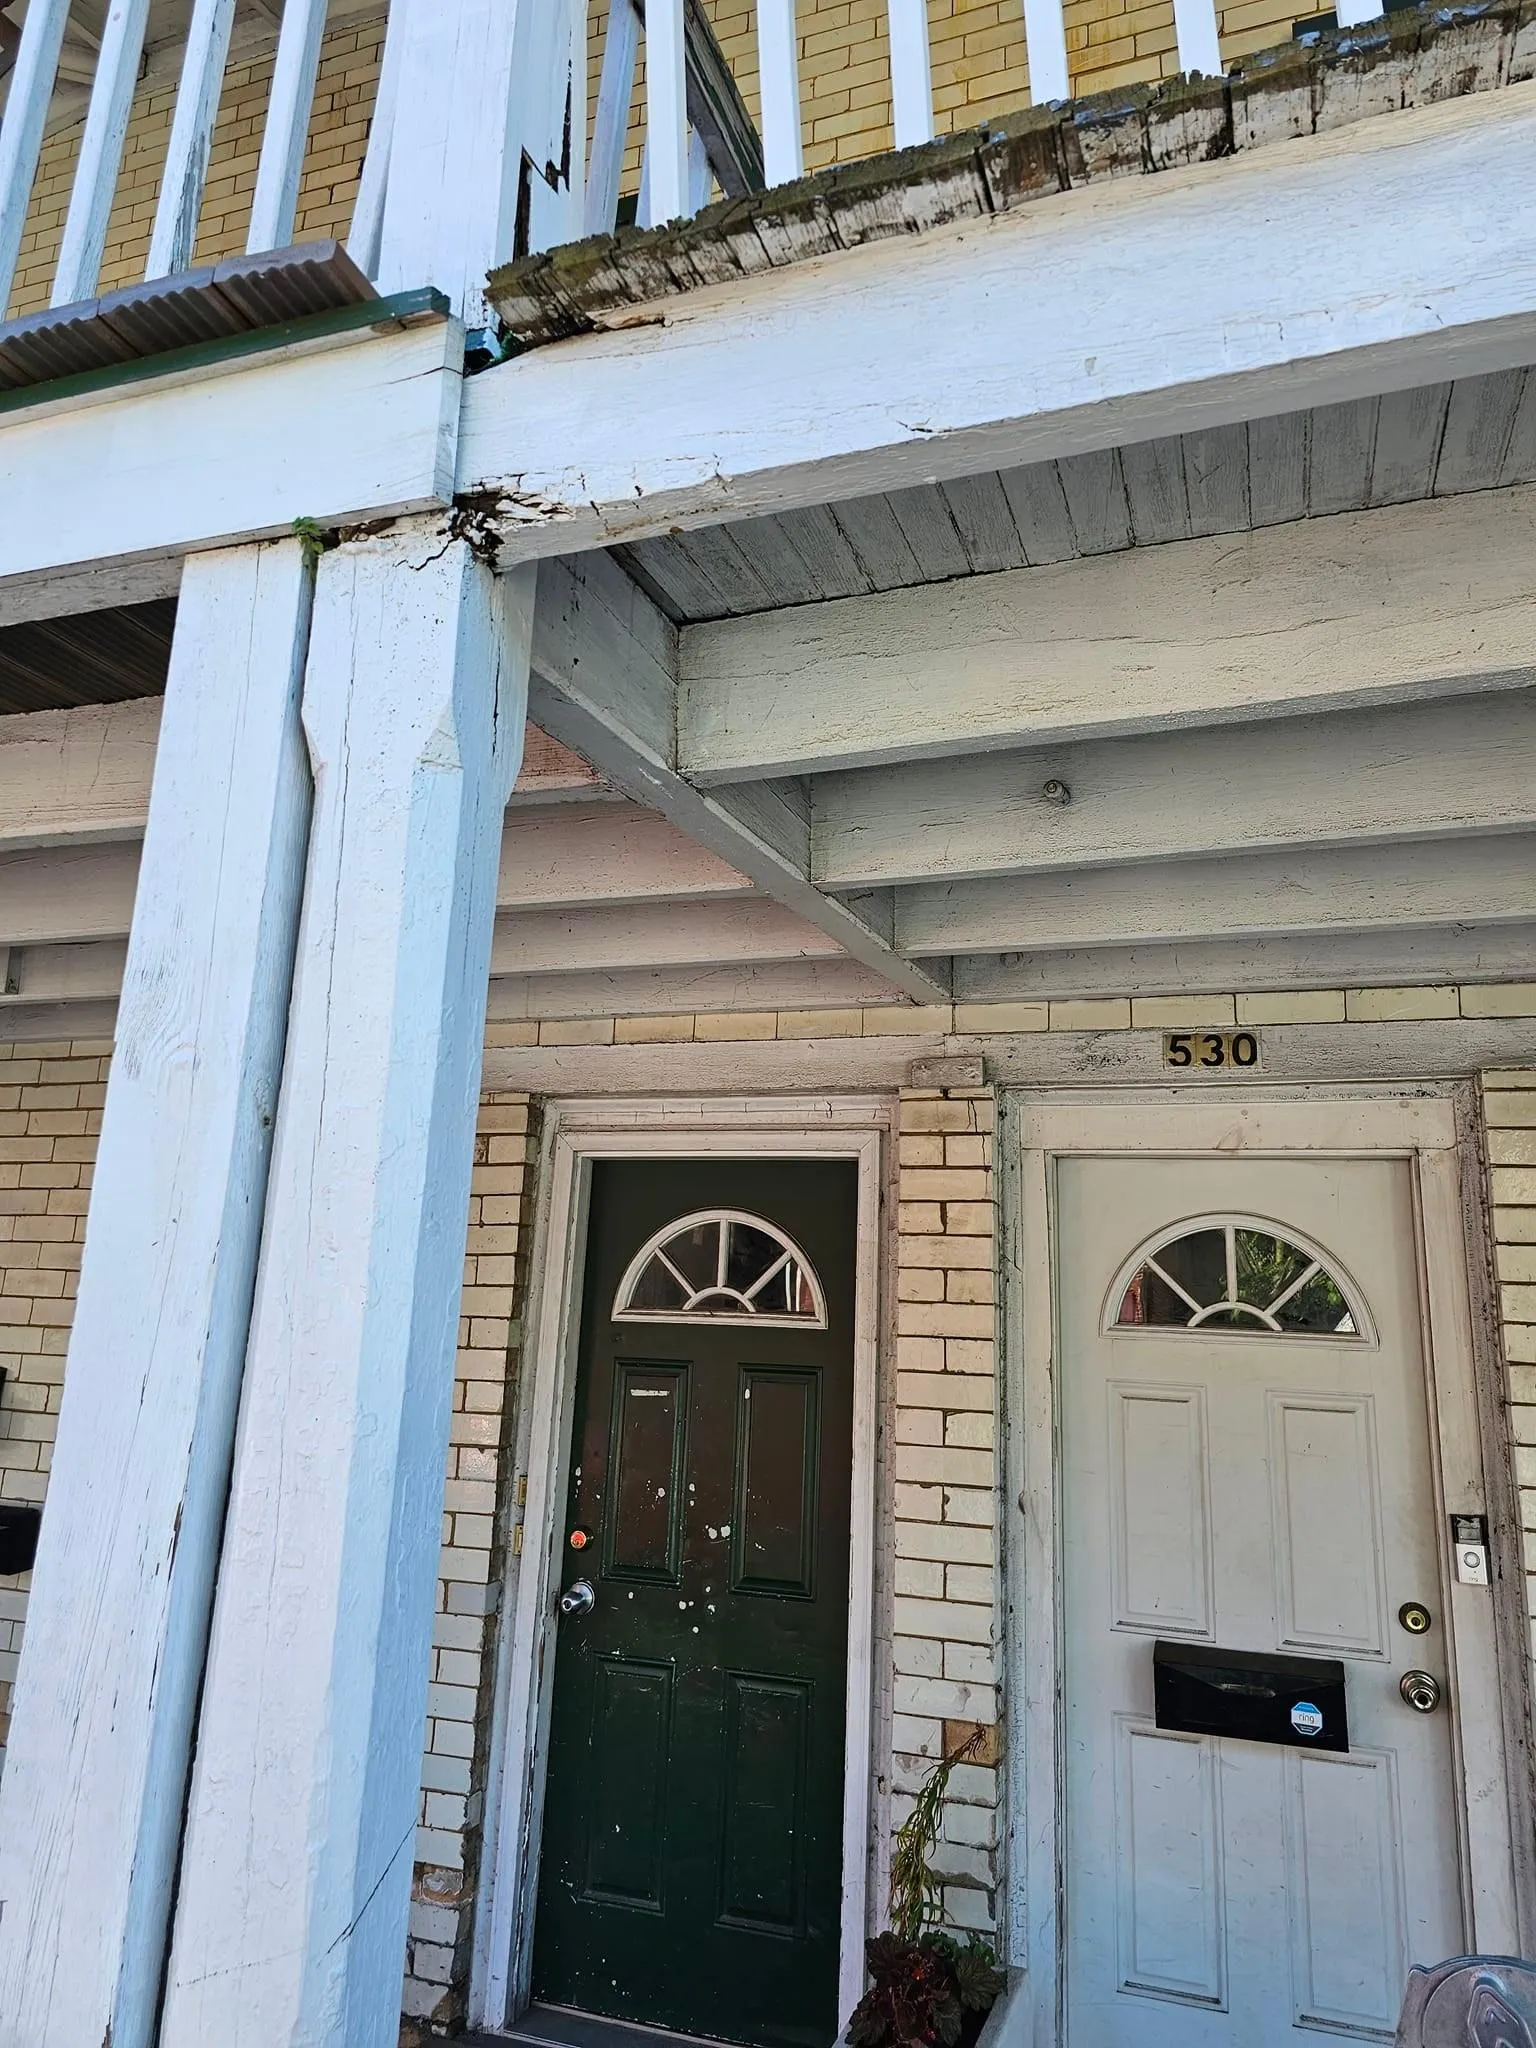
<svg viewBox="0 0 1536 2048"><path fill-rule="evenodd" d="M1114 1276L1104 1329L1376 1341L1337 1260L1262 1217L1194 1217L1149 1239Z"/></svg>

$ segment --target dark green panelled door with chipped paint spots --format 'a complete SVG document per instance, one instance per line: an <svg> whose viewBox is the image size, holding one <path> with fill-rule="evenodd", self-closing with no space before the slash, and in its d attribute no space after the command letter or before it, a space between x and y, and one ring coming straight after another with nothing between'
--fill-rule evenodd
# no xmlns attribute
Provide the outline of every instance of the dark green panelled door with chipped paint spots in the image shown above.
<svg viewBox="0 0 1536 2048"><path fill-rule="evenodd" d="M594 1167L539 2003L838 2032L854 1229L844 1161Z"/></svg>

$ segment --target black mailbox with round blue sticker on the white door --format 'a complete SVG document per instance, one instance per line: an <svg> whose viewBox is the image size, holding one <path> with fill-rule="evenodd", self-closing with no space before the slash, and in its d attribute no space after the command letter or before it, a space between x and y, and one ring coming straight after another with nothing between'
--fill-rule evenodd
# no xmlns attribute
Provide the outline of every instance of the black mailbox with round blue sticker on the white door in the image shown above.
<svg viewBox="0 0 1536 2048"><path fill-rule="evenodd" d="M1337 1657L1268 1657L1204 1642L1153 1645L1157 1726L1288 1749L1350 1747Z"/></svg>

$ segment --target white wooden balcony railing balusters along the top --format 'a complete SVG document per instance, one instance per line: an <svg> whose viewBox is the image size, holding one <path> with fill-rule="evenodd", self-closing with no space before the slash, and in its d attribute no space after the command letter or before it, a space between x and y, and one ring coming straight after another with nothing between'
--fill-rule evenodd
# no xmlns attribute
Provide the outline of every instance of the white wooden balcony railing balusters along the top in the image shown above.
<svg viewBox="0 0 1536 2048"><path fill-rule="evenodd" d="M92 0L90 6L76 6L76 12L88 14L94 31L80 20L72 25L72 0L27 0L25 16L20 16L20 0L0 0L0 92L6 94L4 121L0 123L0 317L12 303L45 135L49 123L59 125L61 106L76 123L84 111L84 125L47 295L53 307L66 307L90 301L98 293L109 231L113 231L113 209L119 199L125 141L135 115L135 94L143 86L145 35L152 43L162 37L164 61L168 27L176 37L178 86L143 276L156 281L188 270L209 182L219 98L231 61L238 4L246 8L260 4L268 53L270 29L272 23L279 23L246 233L246 254L262 254L293 242L322 39L328 23L336 23L338 12L356 14L360 10L358 0ZM598 0L588 0L588 4L598 4ZM1008 4L1018 8L1024 31L1030 98L1036 102L1069 98L1071 74L1063 0L1008 0ZM1219 74L1223 53L1217 0L1167 0L1167 4L1178 39L1180 70ZM399 23L412 16L412 8L418 10L414 29L399 29ZM412 63L432 70L430 37L442 20L453 18L438 10L453 8L479 8L483 12L485 0L391 0L389 6L389 39L373 137L360 174L348 242L352 256L371 276L379 274L385 205L399 205L399 193L385 199L397 111L410 111L414 100L436 84L428 78L412 84L403 74ZM526 23L522 20L524 10L530 10ZM379 0L377 12L383 12L383 0ZM815 0L799 0L799 18L797 0L758 0L756 57L762 135L758 135L729 63L715 41L705 0L610 0L586 166L580 160L580 137L588 129L586 78L580 76L586 55L584 0L504 0L496 12L502 16L500 33L506 37L514 35L506 23L518 25L518 37L526 25L532 25L528 39L518 45L524 57L535 45L543 51L537 61L508 66L508 92L512 94L508 131L514 135L514 150L518 147L516 137L524 137L524 174L530 164L532 203L524 195L516 209L504 209L506 219L498 215L483 233L477 231L469 238L475 242L475 260L469 270L477 276L483 279L489 262L524 254L528 248L571 236L582 227L602 231L614 225L621 176L631 143L641 43L645 84L639 219L643 223L692 215L717 188L737 195L801 176L807 154L801 78L815 72L805 49L807 29L815 23ZM895 145L907 147L930 141L936 133L928 0L887 0L885 12L891 129ZM1337 18L1343 25L1372 18L1378 12L1380 0L1339 0L1337 6ZM16 31L16 18L20 18L20 31ZM430 20L432 27L422 29L424 20ZM250 18L246 18L246 31L250 33ZM70 37L68 45L66 37ZM82 51L90 63L82 63ZM61 76L68 80L68 90L61 88ZM86 80L88 96L82 100ZM526 100L543 102L547 98L549 104L518 106L520 94ZM559 135L561 121L567 139L561 176L555 180L549 137L551 133ZM575 162L571 162L571 135L578 139ZM498 137L498 147L502 139ZM553 154L561 156L559 143L555 143ZM426 156L430 152L418 150L414 162L424 162ZM485 162L485 176L496 182L489 162ZM528 182L526 176L524 182ZM565 195L553 209L549 193L545 193L545 184L551 182L559 184ZM451 207L481 207L485 211L481 193L469 190L463 180L457 190L461 197L451 199ZM489 211L496 213L494 205ZM219 254L233 254L233 250ZM430 250L412 248L410 266L428 270L432 266ZM121 283L121 260L117 272L113 281ZM446 276L430 274L412 276L408 283L451 287L455 305L471 309L473 324L473 281L469 289L463 281L455 285ZM39 289L33 276L29 303L37 301ZM406 285L385 289L406 289Z"/></svg>

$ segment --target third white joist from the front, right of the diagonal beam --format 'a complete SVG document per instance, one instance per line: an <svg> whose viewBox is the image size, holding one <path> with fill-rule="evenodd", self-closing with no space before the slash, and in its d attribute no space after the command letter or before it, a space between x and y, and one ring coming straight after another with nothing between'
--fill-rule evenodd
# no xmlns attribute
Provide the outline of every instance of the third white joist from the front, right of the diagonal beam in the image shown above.
<svg viewBox="0 0 1536 2048"><path fill-rule="evenodd" d="M1536 918L1536 838L1333 846L1122 862L897 893L903 952L1036 952L1223 936L1520 924Z"/></svg>

